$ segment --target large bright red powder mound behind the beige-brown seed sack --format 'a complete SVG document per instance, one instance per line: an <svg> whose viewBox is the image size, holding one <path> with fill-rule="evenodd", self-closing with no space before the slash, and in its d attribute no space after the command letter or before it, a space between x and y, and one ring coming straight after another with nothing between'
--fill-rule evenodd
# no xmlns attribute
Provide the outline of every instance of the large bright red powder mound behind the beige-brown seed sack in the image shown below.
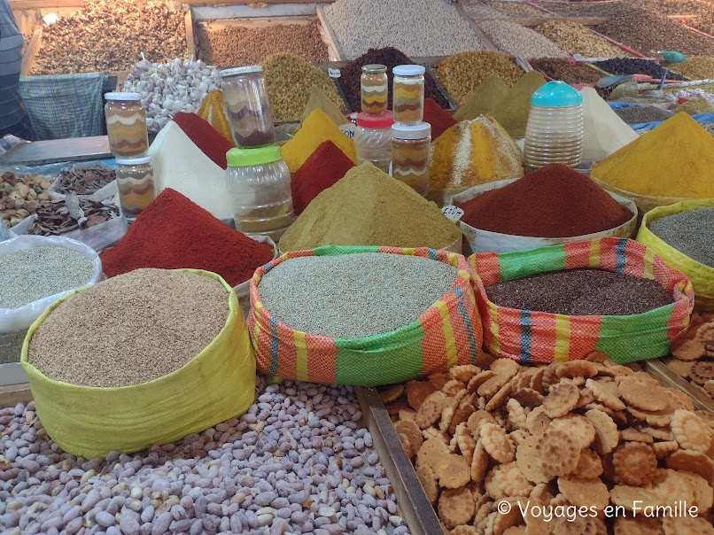
<svg viewBox="0 0 714 535"><path fill-rule="evenodd" d="M194 268L213 271L236 286L273 260L273 248L231 229L167 188L101 259L108 277L138 268Z"/></svg>

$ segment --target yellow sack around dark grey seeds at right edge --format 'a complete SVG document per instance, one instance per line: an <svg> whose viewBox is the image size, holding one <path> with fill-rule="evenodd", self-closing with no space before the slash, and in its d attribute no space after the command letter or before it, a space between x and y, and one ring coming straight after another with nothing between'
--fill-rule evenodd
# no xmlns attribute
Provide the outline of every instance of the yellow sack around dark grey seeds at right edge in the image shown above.
<svg viewBox="0 0 714 535"><path fill-rule="evenodd" d="M706 206L714 206L714 198L686 201L655 208L646 213L642 219L637 241L656 252L670 268L677 269L687 275L695 290L695 310L697 312L714 313L714 268L689 258L686 254L667 244L649 229L649 224L652 221ZM714 229L710 230L714 236Z"/></svg>

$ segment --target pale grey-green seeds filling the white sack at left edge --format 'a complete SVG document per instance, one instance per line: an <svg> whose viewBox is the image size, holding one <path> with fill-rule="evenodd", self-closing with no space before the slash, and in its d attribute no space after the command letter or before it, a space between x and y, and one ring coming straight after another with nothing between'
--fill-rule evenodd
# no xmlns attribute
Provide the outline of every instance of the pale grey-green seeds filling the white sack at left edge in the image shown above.
<svg viewBox="0 0 714 535"><path fill-rule="evenodd" d="M0 308L18 308L78 288L89 283L92 274L91 260L65 247L11 252L0 258Z"/></svg>

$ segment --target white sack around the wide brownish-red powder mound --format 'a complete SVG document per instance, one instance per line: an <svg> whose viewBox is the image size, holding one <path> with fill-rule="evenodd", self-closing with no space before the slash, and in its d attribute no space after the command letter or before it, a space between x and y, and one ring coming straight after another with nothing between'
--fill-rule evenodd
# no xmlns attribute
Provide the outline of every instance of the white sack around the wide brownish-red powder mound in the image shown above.
<svg viewBox="0 0 714 535"><path fill-rule="evenodd" d="M480 186L470 188L458 195L454 195L449 201L449 204L454 204L454 201L464 203L484 193L485 191L498 190L503 186L507 186L511 182L515 182L517 178L508 180L500 180L497 182L489 182ZM570 236L570 237L532 237L532 236L512 236L510 234L501 234L500 232L492 232L490 230L476 229L471 227L464 221L459 221L459 226L462 229L462 234L469 242L472 252L511 252L524 251L525 249L535 249L536 247L547 247L548 245L570 244L570 242L583 242L587 240L599 239L601 237L632 237L637 229L637 205L629 198L617 195L608 191L611 198L617 200L621 205L627 206L633 216L615 229L603 230L586 234L585 236ZM533 217L538 217L533 213Z"/></svg>

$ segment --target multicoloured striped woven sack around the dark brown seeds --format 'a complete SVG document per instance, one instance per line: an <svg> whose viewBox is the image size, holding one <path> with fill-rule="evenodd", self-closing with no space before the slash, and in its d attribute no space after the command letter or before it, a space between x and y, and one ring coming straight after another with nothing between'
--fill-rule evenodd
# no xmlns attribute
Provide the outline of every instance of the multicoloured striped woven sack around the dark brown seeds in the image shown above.
<svg viewBox="0 0 714 535"><path fill-rule="evenodd" d="M530 251L486 252L469 257L477 272L477 302L489 353L521 362L563 362L594 352L626 364L669 353L687 330L695 294L685 275L634 240L605 237ZM562 269L597 268L655 279L674 302L644 314L563 315L498 306L485 286Z"/></svg>

